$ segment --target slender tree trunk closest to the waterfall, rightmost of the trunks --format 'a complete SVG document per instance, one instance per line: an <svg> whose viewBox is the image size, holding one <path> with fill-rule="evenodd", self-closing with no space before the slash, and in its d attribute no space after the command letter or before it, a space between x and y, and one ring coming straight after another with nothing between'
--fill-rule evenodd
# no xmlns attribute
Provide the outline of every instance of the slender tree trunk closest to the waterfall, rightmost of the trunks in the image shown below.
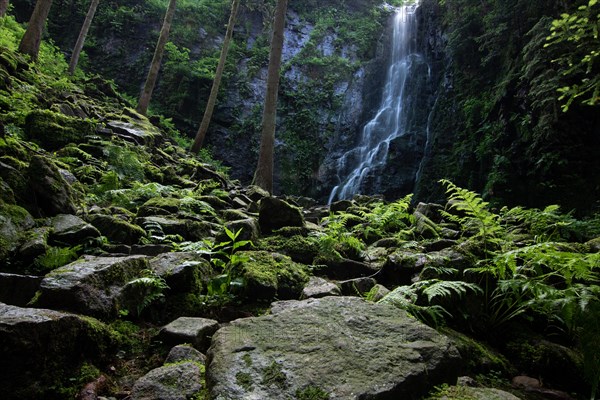
<svg viewBox="0 0 600 400"><path fill-rule="evenodd" d="M254 184L273 193L273 150L275 147L275 124L277 118L277 91L279 89L279 68L283 50L283 29L288 0L277 0L273 36L269 54L269 71L267 73L267 95L263 111L262 135L258 165L254 173Z"/></svg>

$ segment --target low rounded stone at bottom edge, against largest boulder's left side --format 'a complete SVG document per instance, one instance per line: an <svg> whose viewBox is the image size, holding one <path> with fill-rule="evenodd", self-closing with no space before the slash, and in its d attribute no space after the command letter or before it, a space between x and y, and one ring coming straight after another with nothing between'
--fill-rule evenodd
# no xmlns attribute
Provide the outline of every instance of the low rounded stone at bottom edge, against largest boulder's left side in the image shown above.
<svg viewBox="0 0 600 400"><path fill-rule="evenodd" d="M184 361L153 369L138 379L131 400L187 400L202 390L203 366Z"/></svg>

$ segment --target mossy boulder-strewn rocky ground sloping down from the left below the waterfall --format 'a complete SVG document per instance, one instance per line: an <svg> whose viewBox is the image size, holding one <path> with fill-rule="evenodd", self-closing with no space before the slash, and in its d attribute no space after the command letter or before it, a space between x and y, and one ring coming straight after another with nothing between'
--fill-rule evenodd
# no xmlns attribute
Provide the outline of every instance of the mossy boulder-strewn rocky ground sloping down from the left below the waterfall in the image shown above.
<svg viewBox="0 0 600 400"><path fill-rule="evenodd" d="M26 81L18 56L0 61L5 90ZM443 206L396 203L375 229L380 199L241 187L160 126L90 80L0 130L2 398L587 393L581 354L528 325L473 339L394 306L432 270L476 263Z"/></svg>

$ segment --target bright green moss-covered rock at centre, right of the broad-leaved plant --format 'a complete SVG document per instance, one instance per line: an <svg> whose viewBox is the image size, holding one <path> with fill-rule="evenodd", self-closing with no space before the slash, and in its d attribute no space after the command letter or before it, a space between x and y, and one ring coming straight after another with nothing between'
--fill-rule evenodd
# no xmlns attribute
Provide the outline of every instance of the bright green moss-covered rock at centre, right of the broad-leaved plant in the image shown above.
<svg viewBox="0 0 600 400"><path fill-rule="evenodd" d="M239 255L247 259L241 266L241 276L250 299L297 299L308 282L308 267L287 256L267 251L244 251Z"/></svg>

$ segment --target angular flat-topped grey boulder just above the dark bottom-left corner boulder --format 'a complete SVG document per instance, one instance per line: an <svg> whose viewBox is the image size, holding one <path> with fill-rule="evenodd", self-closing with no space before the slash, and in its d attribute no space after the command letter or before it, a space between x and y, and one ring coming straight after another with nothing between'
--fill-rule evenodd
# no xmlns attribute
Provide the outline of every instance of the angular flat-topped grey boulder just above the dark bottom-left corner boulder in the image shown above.
<svg viewBox="0 0 600 400"><path fill-rule="evenodd" d="M127 283L139 277L147 265L146 256L85 256L46 275L36 305L101 318L116 317L119 305L133 302L124 298Z"/></svg>

